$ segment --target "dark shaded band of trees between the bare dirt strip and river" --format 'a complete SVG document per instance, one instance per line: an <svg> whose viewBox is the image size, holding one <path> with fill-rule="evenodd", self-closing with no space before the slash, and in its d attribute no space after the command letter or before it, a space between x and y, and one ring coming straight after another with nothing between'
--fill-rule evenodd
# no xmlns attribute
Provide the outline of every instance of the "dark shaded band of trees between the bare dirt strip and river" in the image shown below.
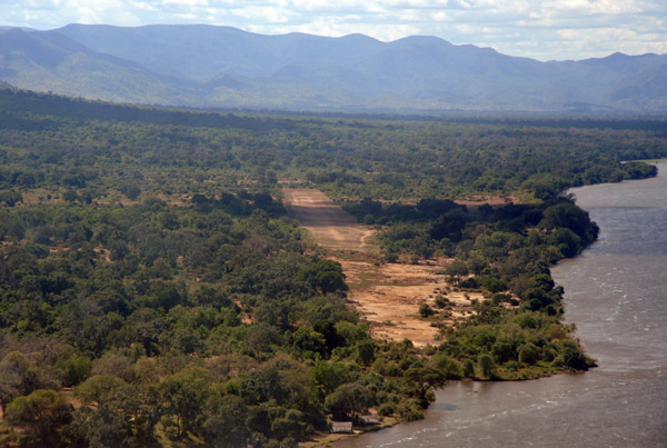
<svg viewBox="0 0 667 448"><path fill-rule="evenodd" d="M557 251L548 261L552 265L560 258L574 257L597 238L597 226L588 213L579 209L570 198L559 197L536 203L502 207L482 205L467 208L448 199L422 199L416 205L364 199L348 202L345 208L359 221L384 229L380 233L385 257L402 251L416 252L422 258L434 255L455 257L470 251L470 242L479 237L491 237L502 241L530 237L532 246L549 242ZM499 261L516 249L510 243L505 250L486 251L486 258ZM480 249L478 247L478 249Z"/></svg>

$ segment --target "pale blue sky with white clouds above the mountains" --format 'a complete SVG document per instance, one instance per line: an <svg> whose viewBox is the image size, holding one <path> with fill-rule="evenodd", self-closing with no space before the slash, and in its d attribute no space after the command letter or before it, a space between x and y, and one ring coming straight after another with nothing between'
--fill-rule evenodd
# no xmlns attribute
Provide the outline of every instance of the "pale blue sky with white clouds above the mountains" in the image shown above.
<svg viewBox="0 0 667 448"><path fill-rule="evenodd" d="M263 34L438 36L539 60L667 53L667 0L0 0L0 24L208 23Z"/></svg>

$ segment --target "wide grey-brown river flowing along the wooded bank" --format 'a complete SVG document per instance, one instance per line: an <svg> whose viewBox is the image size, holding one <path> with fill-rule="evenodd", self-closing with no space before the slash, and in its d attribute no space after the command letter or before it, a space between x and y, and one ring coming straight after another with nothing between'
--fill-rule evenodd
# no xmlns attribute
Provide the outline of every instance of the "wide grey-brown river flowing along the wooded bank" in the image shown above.
<svg viewBox="0 0 667 448"><path fill-rule="evenodd" d="M667 165L648 180L571 190L599 240L552 269L599 367L534 381L455 381L424 420L361 447L667 447Z"/></svg>

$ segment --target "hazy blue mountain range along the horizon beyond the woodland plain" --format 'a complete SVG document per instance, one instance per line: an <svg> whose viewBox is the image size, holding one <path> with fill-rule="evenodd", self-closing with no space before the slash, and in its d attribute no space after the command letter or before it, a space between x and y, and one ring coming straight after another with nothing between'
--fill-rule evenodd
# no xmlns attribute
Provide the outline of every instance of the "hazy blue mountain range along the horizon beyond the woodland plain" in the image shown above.
<svg viewBox="0 0 667 448"><path fill-rule="evenodd" d="M229 27L0 30L0 80L145 104L405 111L667 111L667 56L540 62L434 37Z"/></svg>

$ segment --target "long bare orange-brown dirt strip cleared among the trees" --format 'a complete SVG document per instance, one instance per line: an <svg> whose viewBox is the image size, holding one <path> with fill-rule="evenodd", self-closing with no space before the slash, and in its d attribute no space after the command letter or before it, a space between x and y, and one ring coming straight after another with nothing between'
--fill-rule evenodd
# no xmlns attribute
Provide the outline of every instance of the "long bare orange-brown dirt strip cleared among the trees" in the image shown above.
<svg viewBox="0 0 667 448"><path fill-rule="evenodd" d="M286 202L295 218L340 262L350 286L349 299L371 323L375 337L389 340L410 339L415 346L437 344L438 329L418 313L422 303L434 306L435 297L446 293L452 302L451 319L470 312L470 300L480 295L454 292L438 273L447 259L419 263L378 262L374 230L358 225L325 193L315 189L283 189Z"/></svg>

